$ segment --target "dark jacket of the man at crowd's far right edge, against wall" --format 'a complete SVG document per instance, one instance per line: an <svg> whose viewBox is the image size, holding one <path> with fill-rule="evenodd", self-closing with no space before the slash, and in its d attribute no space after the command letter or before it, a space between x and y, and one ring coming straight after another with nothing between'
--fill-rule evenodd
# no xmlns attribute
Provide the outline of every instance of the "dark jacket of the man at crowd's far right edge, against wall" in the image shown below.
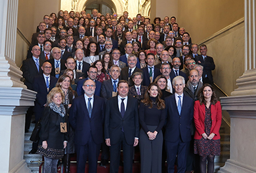
<svg viewBox="0 0 256 173"><path fill-rule="evenodd" d="M203 76L202 76L203 80L206 83L208 83L208 81L210 84L213 83L213 74L211 73L211 71L213 71L215 69L215 63L213 61L213 58L210 56L206 56L203 61L203 56L198 55L195 57L194 60L196 61L197 64L203 66ZM200 61L201 63L199 63L198 61Z"/></svg>

